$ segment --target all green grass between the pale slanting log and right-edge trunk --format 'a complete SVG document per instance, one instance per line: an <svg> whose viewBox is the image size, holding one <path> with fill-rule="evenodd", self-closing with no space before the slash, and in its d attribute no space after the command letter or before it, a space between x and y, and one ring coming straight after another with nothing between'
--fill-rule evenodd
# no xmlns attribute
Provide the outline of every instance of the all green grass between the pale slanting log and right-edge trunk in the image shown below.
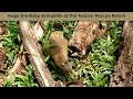
<svg viewBox="0 0 133 99"><path fill-rule="evenodd" d="M76 21L51 21L51 26L47 25L45 36L42 45L45 45L44 42L49 45L49 36L52 31L62 31L64 37L69 41L73 34ZM106 22L101 22L102 26L106 26ZM44 26L45 28L45 26ZM50 28L50 29L48 29ZM83 85L85 87L108 87L109 78L113 73L113 66L115 64L115 54L121 42L122 26L121 22L111 22L109 25L109 35L106 37L99 37L92 44L92 50L88 53L88 62L84 64L76 57L70 57L74 70L78 72L78 75L66 75L63 74L53 63L52 58L48 53L49 47L44 47L44 56L49 68L51 69L52 77L55 80L72 81L78 77L83 78ZM47 54L45 54L47 53ZM71 51L71 55L73 51Z"/></svg>

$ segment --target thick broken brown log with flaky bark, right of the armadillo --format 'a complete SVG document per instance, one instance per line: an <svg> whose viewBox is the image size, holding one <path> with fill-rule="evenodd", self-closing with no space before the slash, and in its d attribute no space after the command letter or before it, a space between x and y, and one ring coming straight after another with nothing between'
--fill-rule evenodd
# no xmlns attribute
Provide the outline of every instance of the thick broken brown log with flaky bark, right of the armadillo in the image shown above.
<svg viewBox="0 0 133 99"><path fill-rule="evenodd" d="M69 46L76 47L82 57L95 38L105 35L108 35L108 28L100 29L99 21L80 21L69 41Z"/></svg>

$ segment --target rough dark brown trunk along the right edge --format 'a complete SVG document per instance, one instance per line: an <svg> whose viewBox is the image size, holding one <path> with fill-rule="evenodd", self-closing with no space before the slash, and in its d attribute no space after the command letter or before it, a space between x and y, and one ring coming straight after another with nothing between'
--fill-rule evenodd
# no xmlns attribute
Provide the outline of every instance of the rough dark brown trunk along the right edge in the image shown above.
<svg viewBox="0 0 133 99"><path fill-rule="evenodd" d="M123 25L123 47L110 87L133 87L133 22Z"/></svg>

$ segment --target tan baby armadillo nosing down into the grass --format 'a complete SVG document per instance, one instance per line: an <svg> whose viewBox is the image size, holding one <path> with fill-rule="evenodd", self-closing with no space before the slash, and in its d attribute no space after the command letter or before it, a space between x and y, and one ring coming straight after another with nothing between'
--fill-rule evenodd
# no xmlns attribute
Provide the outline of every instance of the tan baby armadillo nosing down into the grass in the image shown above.
<svg viewBox="0 0 133 99"><path fill-rule="evenodd" d="M74 73L68 58L68 41L64 38L62 32L55 31L51 33L49 42L51 47L48 52L53 58L54 64L63 72Z"/></svg>

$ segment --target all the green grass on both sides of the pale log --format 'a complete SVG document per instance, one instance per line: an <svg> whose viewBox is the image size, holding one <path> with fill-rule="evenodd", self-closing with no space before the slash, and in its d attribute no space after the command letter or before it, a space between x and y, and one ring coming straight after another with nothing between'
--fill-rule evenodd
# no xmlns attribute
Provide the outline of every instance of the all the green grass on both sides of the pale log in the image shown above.
<svg viewBox="0 0 133 99"><path fill-rule="evenodd" d="M8 26L8 34L2 41L2 46L4 47L6 55L8 57L8 66L11 66L14 56L22 51L22 42L18 31L18 22L6 21L3 23ZM93 42L92 48L86 53L86 63L72 56L74 51L68 48L69 52L71 52L69 55L70 61L74 70L78 72L78 75L63 74L63 72L54 65L50 54L48 53L48 48L51 46L49 44L51 33L53 31L62 31L64 37L69 41L78 21L44 21L43 23L44 37L39 42L43 47L43 55L45 57L44 62L48 64L54 80L72 81L78 79L78 77L82 77L84 87L109 86L109 79L113 73L113 66L116 62L116 53L121 43L122 22L112 21L110 25L105 21L101 22L102 26L109 26L109 35L106 37L99 37ZM25 76L16 74L14 82L10 84L6 80L4 86L38 87L38 84L34 82L31 65L28 65L25 73Z"/></svg>

